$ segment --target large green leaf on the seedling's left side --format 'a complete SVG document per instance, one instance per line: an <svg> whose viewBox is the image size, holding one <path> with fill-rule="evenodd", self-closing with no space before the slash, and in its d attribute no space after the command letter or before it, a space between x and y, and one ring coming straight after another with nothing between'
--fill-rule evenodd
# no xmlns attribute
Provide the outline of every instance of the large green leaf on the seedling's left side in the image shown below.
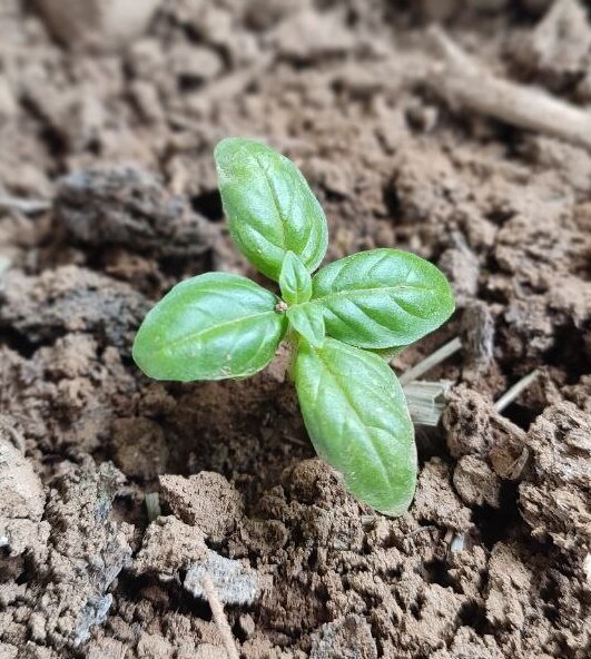
<svg viewBox="0 0 591 659"><path fill-rule="evenodd" d="M181 282L144 319L134 360L156 380L252 375L270 362L287 328L277 302L258 284L228 273Z"/></svg>

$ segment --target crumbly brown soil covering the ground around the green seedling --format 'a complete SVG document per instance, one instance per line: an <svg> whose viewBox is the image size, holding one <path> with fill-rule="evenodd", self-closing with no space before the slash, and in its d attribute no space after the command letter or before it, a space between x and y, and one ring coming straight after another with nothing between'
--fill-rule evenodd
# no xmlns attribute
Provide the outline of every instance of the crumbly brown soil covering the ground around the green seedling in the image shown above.
<svg viewBox="0 0 591 659"><path fill-rule="evenodd" d="M2 659L225 657L205 571L245 659L591 656L591 159L429 85L436 19L589 102L585 11L548 4L173 0L101 50L2 2L0 196L50 203L0 206ZM400 519L314 458L280 368L161 384L130 358L175 282L253 275L216 191L228 135L302 167L329 259L407 248L456 289L395 361L464 337Z"/></svg>

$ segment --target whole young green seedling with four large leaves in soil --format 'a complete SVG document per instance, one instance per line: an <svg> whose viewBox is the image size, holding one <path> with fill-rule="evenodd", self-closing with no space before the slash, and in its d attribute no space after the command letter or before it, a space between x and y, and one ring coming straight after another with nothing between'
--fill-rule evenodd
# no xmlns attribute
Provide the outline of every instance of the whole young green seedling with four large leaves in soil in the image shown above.
<svg viewBox="0 0 591 659"><path fill-rule="evenodd" d="M215 160L234 243L279 284L280 297L228 273L181 282L146 316L134 358L157 380L237 378L267 366L287 341L289 374L318 455L358 500L388 515L404 513L416 482L414 429L380 354L446 321L454 309L450 284L418 256L386 248L312 276L328 230L297 167L240 138L220 141Z"/></svg>

